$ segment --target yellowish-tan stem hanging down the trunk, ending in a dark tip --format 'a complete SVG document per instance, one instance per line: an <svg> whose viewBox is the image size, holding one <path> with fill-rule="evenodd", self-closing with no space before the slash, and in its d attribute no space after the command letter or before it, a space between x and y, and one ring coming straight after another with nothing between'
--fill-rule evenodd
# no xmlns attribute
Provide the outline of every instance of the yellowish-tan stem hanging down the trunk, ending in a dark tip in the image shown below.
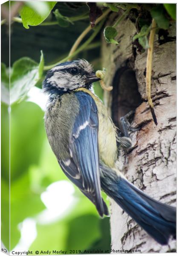
<svg viewBox="0 0 179 256"><path fill-rule="evenodd" d="M152 113L153 121L157 125L156 114L154 112L153 102L151 99L152 56L153 56L153 42L154 42L155 32L156 32L156 21L153 19L151 30L150 30L150 37L149 37L149 49L147 52L146 93L147 93L147 99L150 105L150 111Z"/></svg>

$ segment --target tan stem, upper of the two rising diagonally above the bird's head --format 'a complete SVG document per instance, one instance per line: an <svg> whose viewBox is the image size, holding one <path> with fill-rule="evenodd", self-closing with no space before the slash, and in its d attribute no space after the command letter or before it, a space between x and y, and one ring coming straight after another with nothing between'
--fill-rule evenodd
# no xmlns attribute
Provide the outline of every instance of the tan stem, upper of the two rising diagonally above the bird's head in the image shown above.
<svg viewBox="0 0 179 256"><path fill-rule="evenodd" d="M98 19L96 20L95 24L98 24L98 22L100 22L106 15L108 15L108 13L110 12L110 9L108 9L106 12L104 12L100 17L98 17ZM73 54L73 52L75 52L75 50L77 49L78 45L81 43L81 41L83 40L83 38L87 35L87 33L91 30L91 26L88 26L84 32L81 33L81 35L77 38L77 40L75 41L75 43L73 44L70 52L69 52L69 60L70 60L70 56Z"/></svg>

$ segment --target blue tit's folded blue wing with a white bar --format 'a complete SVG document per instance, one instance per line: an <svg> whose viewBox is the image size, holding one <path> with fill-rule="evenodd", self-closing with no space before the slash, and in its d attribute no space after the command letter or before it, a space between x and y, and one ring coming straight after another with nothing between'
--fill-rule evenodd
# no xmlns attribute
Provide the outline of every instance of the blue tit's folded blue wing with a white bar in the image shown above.
<svg viewBox="0 0 179 256"><path fill-rule="evenodd" d="M98 157L98 110L92 97L82 91L75 93L79 113L69 140L70 158L60 165L69 179L95 204L99 214L107 214L101 198Z"/></svg>

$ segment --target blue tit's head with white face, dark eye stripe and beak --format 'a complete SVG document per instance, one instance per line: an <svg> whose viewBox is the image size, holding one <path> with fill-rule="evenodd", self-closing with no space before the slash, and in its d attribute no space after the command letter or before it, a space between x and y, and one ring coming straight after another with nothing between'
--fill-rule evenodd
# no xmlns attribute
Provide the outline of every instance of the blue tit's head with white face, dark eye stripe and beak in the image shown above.
<svg viewBox="0 0 179 256"><path fill-rule="evenodd" d="M43 81L43 90L49 94L63 94L80 87L90 89L92 83L98 80L90 63L78 59L61 63L49 70Z"/></svg>

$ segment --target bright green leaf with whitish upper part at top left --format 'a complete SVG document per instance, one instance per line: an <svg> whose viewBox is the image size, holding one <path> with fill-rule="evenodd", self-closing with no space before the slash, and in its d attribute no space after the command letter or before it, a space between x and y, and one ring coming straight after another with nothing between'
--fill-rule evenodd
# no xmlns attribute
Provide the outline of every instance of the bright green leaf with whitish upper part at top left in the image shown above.
<svg viewBox="0 0 179 256"><path fill-rule="evenodd" d="M26 5L20 10L23 26L29 29L30 26L37 26L45 20L57 2L26 1ZM43 4L43 7L42 7ZM41 6L39 8L39 5ZM41 11L40 11L41 9Z"/></svg>

